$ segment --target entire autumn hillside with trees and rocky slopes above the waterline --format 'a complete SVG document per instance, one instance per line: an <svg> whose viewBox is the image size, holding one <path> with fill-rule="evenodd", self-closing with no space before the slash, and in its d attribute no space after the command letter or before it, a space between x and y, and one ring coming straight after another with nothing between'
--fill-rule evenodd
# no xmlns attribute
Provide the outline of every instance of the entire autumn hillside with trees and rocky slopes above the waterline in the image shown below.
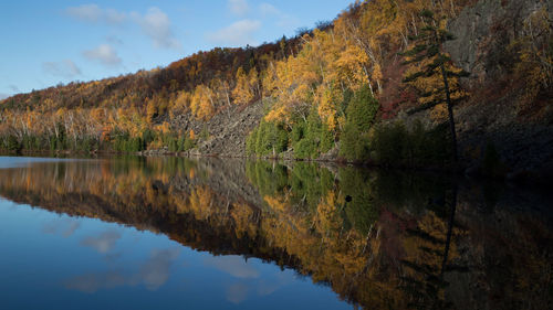
<svg viewBox="0 0 553 310"><path fill-rule="evenodd" d="M293 39L7 98L0 146L409 167L458 154L468 171L543 171L552 12L550 0L356 1Z"/></svg>

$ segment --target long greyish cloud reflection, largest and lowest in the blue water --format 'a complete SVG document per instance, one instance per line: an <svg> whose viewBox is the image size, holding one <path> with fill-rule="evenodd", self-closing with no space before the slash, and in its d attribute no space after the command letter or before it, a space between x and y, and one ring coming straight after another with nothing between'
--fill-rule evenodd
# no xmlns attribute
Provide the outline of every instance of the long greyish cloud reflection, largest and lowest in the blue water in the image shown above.
<svg viewBox="0 0 553 310"><path fill-rule="evenodd" d="M112 270L77 276L65 281L65 287L87 293L100 289L138 285L144 285L148 290L157 290L169 279L170 266L179 254L179 248L154 250L136 274L125 275L123 271Z"/></svg>

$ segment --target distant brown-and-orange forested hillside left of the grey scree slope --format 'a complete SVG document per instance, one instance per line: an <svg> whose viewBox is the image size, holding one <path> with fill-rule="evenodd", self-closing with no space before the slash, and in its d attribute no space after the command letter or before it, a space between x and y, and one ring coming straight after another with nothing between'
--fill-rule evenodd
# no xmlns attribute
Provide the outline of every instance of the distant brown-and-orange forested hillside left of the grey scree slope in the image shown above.
<svg viewBox="0 0 553 310"><path fill-rule="evenodd" d="M255 49L215 49L165 68L13 96L1 104L3 148L140 151L167 147L184 135L170 126L176 116L209 120L231 104L259 99L260 87L243 94L244 85L257 84L258 71L296 49L299 39L285 38Z"/></svg>

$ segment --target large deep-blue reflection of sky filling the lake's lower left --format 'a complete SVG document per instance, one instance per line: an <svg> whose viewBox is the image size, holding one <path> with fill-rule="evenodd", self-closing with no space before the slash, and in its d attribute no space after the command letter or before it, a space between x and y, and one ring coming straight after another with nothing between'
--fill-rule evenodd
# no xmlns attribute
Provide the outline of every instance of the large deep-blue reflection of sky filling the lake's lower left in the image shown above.
<svg viewBox="0 0 553 310"><path fill-rule="evenodd" d="M349 309L260 259L0 199L2 309ZM64 301L60 304L60 301Z"/></svg>

